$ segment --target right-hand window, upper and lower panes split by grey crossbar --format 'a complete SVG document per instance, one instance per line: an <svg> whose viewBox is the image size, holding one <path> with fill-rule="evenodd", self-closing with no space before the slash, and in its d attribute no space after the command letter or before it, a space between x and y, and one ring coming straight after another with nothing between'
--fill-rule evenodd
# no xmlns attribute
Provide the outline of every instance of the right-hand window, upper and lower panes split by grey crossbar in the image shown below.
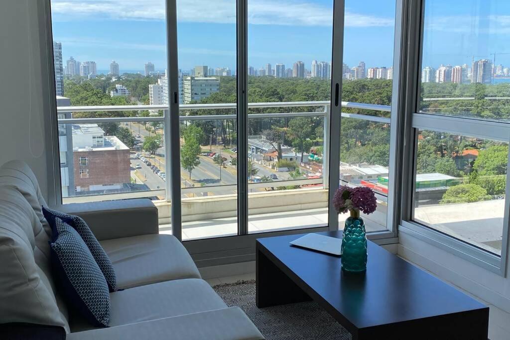
<svg viewBox="0 0 510 340"><path fill-rule="evenodd" d="M427 0L418 14L417 95L403 150L412 155L412 169L404 170L412 174L404 179L412 188L403 200L411 204L400 229L500 274L510 214L504 6Z"/></svg>

